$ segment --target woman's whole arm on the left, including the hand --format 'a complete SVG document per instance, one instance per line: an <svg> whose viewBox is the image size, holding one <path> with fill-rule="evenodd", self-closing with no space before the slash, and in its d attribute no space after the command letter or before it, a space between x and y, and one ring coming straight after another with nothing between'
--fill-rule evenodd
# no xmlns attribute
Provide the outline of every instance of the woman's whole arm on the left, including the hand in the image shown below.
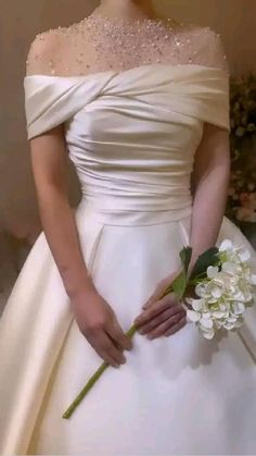
<svg viewBox="0 0 256 456"><path fill-rule="evenodd" d="M56 52L59 48L53 45L52 36L50 42L47 37L34 44L29 52L29 72L41 74L44 67L38 66L37 62L43 61L43 53L48 61L49 51ZM106 362L118 367L125 362L123 350L131 348L131 342L123 332L112 307L97 292L84 260L74 210L68 200L64 125L31 138L30 153L43 232L71 298L78 328Z"/></svg>

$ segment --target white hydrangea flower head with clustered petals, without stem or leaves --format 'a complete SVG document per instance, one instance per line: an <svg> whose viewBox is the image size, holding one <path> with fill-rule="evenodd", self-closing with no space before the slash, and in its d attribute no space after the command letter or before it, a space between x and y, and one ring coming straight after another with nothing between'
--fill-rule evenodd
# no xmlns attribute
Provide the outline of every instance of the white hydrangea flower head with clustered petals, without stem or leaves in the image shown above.
<svg viewBox="0 0 256 456"><path fill-rule="evenodd" d="M230 239L222 241L218 250L219 266L208 267L206 278L195 285L199 298L187 298L193 309L187 310L188 320L194 322L207 340L221 328L228 331L241 328L246 306L254 304L256 274L248 263L249 250L234 247Z"/></svg>

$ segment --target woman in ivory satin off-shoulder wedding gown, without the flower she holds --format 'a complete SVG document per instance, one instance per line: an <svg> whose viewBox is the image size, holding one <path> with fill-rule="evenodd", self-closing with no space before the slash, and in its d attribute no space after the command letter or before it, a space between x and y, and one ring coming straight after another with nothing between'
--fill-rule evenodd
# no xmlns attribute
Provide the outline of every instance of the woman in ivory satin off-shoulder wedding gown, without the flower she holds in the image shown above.
<svg viewBox="0 0 256 456"><path fill-rule="evenodd" d="M158 17L151 0L102 0L36 37L24 85L43 232L1 319L2 454L254 453L255 316L206 341L172 294L157 299L183 245L191 268L227 237L255 256L223 217L219 35ZM102 360L111 367L63 419Z"/></svg>

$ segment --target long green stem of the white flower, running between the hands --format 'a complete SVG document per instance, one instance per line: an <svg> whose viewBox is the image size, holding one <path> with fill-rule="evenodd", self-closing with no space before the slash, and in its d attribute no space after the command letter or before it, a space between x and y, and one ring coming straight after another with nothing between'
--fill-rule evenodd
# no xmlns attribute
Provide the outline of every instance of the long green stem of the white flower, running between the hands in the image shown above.
<svg viewBox="0 0 256 456"><path fill-rule="evenodd" d="M158 299L162 299L163 297L165 297L166 295L168 295L170 292L172 291L171 285L168 285L163 294L161 295L161 297L158 297ZM128 337L133 337L133 335L137 332L137 328L135 324L132 324L130 326L130 329L127 331L126 335ZM75 400L69 405L69 407L66 409L66 411L63 414L62 418L68 419L73 412L75 411L75 409L77 408L77 406L81 403L81 400L84 399L84 397L87 395L87 393L92 389L92 386L95 384L95 382L100 379L100 377L102 375L102 373L106 370L106 368L108 367L108 362L104 361L99 369L93 373L93 375L88 380L87 384L84 386L84 389L80 391L80 393L77 395L77 397L75 398Z"/></svg>

